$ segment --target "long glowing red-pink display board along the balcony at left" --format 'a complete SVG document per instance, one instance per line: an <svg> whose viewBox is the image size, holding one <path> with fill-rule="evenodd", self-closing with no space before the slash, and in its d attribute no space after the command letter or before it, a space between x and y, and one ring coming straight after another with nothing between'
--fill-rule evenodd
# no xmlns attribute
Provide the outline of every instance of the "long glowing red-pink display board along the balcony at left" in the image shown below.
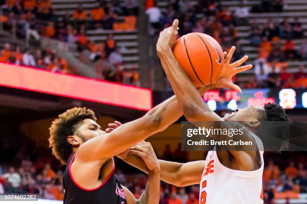
<svg viewBox="0 0 307 204"><path fill-rule="evenodd" d="M0 63L0 85L139 110L152 108L148 88L10 63Z"/></svg>

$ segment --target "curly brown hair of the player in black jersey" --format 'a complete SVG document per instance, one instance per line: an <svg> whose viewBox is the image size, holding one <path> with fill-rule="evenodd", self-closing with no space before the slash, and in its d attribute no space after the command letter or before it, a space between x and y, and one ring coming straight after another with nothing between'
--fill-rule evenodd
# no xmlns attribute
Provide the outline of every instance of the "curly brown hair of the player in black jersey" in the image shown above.
<svg viewBox="0 0 307 204"><path fill-rule="evenodd" d="M55 119L49 130L49 147L52 153L62 164L66 164L72 153L72 145L67 141L67 136L76 134L84 119L97 120L95 113L85 107L74 107L66 110Z"/></svg>

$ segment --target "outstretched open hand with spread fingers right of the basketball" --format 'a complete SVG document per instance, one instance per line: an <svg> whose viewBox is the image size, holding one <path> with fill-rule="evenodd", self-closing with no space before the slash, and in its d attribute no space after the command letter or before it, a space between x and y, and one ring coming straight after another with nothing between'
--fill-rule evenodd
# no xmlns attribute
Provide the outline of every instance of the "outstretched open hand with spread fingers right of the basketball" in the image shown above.
<svg viewBox="0 0 307 204"><path fill-rule="evenodd" d="M240 73L242 71L252 68L253 65L248 64L248 65L241 66L248 59L247 55L243 56L241 59L230 64L231 57L235 49L236 47L232 46L228 54L227 52L224 52L224 57L226 56L224 60L224 65L223 65L223 68L218 78L215 81L213 81L213 85L218 88L234 89L238 91L239 93L241 93L242 92L241 88L238 85L232 83L231 78L237 73Z"/></svg>

